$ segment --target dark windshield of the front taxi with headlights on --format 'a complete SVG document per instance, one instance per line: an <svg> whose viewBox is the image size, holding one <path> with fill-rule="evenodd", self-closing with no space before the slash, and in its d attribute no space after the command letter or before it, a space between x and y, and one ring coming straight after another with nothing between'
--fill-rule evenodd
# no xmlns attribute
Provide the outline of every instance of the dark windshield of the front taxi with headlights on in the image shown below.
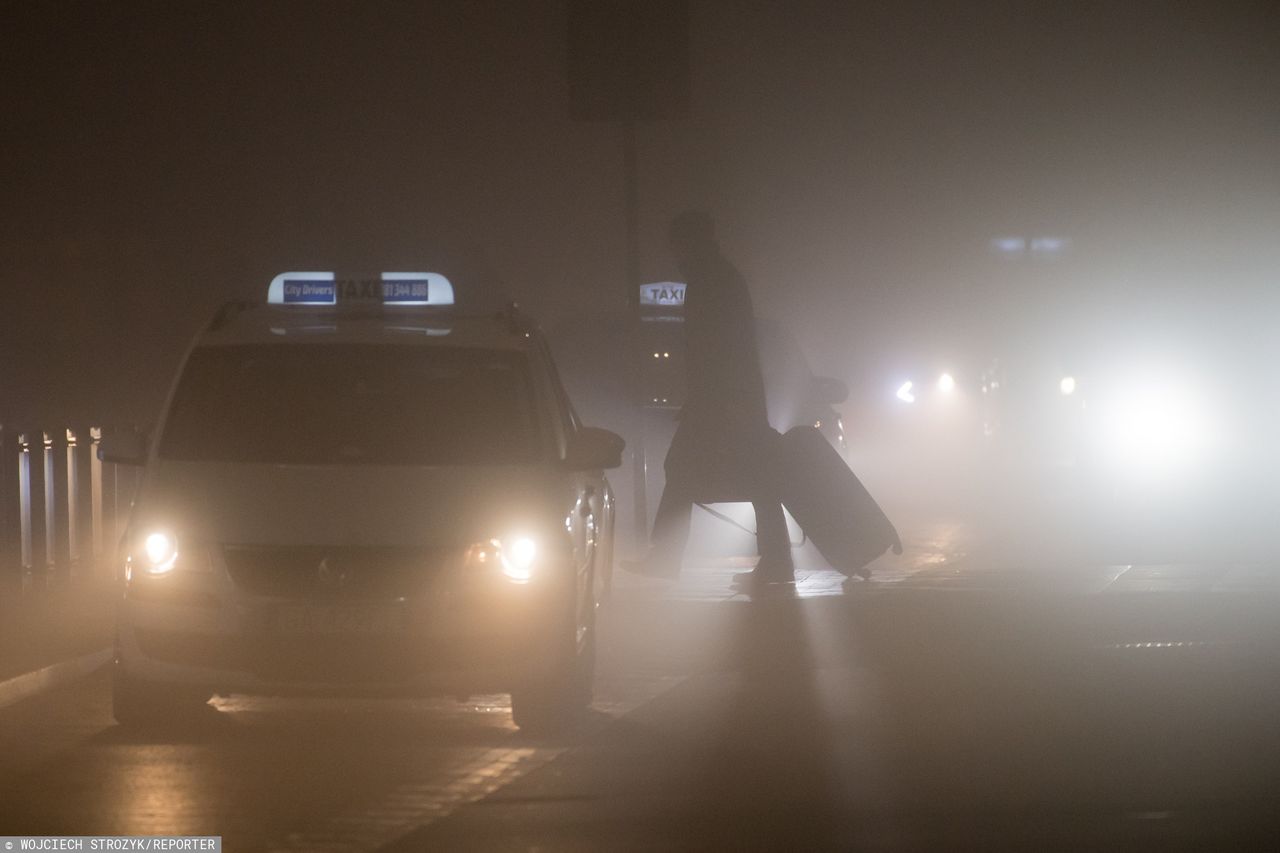
<svg viewBox="0 0 1280 853"><path fill-rule="evenodd" d="M291 345L192 352L160 444L169 460L486 465L535 459L522 355Z"/></svg>

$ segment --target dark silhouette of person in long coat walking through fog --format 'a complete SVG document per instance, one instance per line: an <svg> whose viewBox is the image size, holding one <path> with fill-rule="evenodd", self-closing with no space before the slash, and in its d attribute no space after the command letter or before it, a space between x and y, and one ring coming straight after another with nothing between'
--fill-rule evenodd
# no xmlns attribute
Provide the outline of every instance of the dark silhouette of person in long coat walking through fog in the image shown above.
<svg viewBox="0 0 1280 853"><path fill-rule="evenodd" d="M721 252L716 224L705 211L676 216L668 240L687 286L686 396L663 464L667 483L654 519L653 546L636 570L677 576L694 502L728 491L755 507L760 560L749 580L788 583L794 578L791 539L772 484L778 435L769 426L765 407L751 295Z"/></svg>

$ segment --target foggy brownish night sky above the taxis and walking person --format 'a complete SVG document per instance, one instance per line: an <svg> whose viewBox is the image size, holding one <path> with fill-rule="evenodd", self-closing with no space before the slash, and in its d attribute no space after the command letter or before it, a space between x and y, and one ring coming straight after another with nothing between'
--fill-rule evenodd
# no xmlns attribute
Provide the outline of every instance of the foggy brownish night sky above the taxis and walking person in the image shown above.
<svg viewBox="0 0 1280 853"><path fill-rule="evenodd" d="M621 292L621 136L568 118L562 3L4 9L0 419L152 416L284 269L483 251L544 316ZM1000 233L1070 234L1093 280L1274 280L1275 9L694 0L691 115L640 131L645 277L705 205L846 375L943 334Z"/></svg>

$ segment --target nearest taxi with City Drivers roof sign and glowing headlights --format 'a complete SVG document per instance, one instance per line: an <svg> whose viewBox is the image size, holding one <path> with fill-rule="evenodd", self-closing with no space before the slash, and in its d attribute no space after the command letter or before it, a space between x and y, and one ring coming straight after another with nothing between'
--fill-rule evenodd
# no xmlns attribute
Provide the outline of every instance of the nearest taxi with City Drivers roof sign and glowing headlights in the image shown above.
<svg viewBox="0 0 1280 853"><path fill-rule="evenodd" d="M604 470L517 309L434 273L285 273L197 337L124 537L114 712L215 694L509 692L522 727L590 703L612 571Z"/></svg>

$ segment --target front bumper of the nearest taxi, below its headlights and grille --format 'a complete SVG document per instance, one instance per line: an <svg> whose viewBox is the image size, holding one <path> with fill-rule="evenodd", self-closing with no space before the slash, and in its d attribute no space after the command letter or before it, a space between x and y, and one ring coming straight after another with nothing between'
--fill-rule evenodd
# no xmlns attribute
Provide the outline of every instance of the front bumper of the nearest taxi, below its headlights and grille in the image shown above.
<svg viewBox="0 0 1280 853"><path fill-rule="evenodd" d="M558 578L449 578L415 597L282 598L227 576L140 576L119 605L120 671L215 693L508 690L561 665L571 593Z"/></svg>

